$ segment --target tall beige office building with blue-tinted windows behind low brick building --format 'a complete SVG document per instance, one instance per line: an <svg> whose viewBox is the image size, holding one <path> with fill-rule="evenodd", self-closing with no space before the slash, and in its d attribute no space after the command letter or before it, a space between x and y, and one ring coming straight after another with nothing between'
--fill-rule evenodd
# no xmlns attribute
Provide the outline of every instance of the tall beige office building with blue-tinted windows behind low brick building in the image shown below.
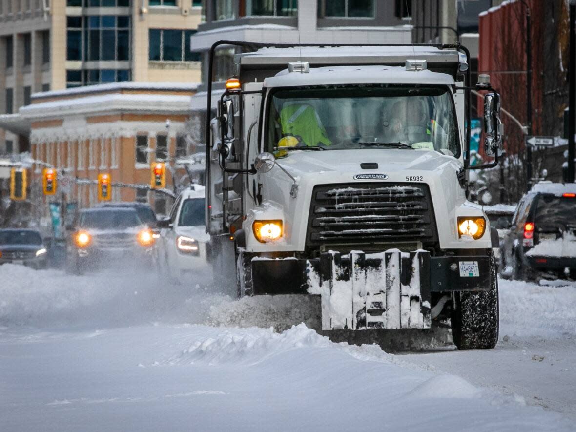
<svg viewBox="0 0 576 432"><path fill-rule="evenodd" d="M0 0L0 154L30 149L34 93L121 81L199 82L200 0Z"/></svg>

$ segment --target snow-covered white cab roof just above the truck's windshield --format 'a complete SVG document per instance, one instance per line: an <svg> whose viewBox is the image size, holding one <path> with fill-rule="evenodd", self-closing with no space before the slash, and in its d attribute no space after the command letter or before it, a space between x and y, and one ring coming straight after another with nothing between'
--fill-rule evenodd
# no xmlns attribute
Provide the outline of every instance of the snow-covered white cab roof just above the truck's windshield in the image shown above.
<svg viewBox="0 0 576 432"><path fill-rule="evenodd" d="M430 70L407 71L401 66L326 66L310 68L309 73L289 73L287 69L264 79L264 87L338 84L435 84L453 85L449 74Z"/></svg>

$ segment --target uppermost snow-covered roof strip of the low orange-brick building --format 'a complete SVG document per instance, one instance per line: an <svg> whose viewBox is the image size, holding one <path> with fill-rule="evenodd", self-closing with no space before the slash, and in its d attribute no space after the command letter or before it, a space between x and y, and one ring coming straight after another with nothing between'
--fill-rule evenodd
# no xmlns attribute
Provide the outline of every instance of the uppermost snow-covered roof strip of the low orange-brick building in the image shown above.
<svg viewBox="0 0 576 432"><path fill-rule="evenodd" d="M50 90L50 92L40 92L32 94L33 99L55 97L55 96L72 96L77 94L115 92L118 90L170 90L193 92L198 88L200 83L196 82L142 82L142 81L123 81L111 82L109 84L86 85L65 90Z"/></svg>

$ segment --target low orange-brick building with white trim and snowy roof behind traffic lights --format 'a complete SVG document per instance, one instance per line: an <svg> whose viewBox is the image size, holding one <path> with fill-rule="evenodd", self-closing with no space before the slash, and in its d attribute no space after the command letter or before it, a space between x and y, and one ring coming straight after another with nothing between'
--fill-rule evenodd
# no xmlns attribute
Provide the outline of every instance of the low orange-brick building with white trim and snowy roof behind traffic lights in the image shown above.
<svg viewBox="0 0 576 432"><path fill-rule="evenodd" d="M165 214L172 199L145 188L150 184L150 164L166 162L166 189L188 184L182 161L192 160L188 121L195 89L191 84L119 82L33 96L20 110L31 125L31 200L40 204L64 199L79 207L93 206L97 186L85 180L109 173L112 200L147 202ZM46 166L58 169L56 196L43 197L41 174ZM119 187L116 182L142 188Z"/></svg>

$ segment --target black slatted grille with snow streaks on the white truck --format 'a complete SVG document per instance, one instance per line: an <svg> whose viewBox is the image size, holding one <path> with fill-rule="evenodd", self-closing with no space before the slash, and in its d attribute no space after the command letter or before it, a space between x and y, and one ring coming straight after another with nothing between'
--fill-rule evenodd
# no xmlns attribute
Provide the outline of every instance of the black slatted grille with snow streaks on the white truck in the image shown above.
<svg viewBox="0 0 576 432"><path fill-rule="evenodd" d="M426 184L318 185L312 192L308 246L432 242L434 211Z"/></svg>

